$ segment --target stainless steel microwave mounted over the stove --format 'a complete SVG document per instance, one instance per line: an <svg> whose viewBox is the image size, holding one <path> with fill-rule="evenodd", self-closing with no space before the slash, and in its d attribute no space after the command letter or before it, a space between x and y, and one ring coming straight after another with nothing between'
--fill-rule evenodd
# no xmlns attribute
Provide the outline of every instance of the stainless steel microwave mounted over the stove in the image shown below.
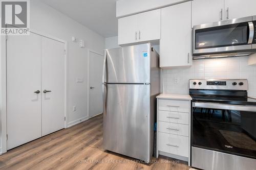
<svg viewBox="0 0 256 170"><path fill-rule="evenodd" d="M206 23L193 28L193 58L256 53L256 16Z"/></svg>

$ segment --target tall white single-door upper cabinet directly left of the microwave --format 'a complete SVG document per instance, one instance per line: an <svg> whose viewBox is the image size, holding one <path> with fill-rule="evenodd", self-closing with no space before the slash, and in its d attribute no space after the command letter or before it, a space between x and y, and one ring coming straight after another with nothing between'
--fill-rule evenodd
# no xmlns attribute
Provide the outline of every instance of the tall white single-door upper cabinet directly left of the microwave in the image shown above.
<svg viewBox="0 0 256 170"><path fill-rule="evenodd" d="M161 11L160 67L191 65L191 1Z"/></svg>

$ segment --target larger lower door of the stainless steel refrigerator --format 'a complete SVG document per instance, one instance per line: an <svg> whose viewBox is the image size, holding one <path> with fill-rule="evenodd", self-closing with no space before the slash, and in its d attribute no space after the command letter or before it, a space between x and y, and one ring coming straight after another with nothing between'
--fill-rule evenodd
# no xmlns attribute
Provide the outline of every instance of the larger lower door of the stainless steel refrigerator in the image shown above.
<svg viewBox="0 0 256 170"><path fill-rule="evenodd" d="M150 85L103 84L104 149L150 160Z"/></svg>

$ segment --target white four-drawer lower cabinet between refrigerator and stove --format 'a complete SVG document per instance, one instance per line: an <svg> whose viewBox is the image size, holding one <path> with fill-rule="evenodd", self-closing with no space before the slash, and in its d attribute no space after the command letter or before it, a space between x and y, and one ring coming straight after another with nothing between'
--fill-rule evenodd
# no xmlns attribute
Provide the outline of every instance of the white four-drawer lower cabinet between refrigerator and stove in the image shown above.
<svg viewBox="0 0 256 170"><path fill-rule="evenodd" d="M190 165L191 102L188 98L178 100L162 96L157 96L157 156L181 159Z"/></svg>

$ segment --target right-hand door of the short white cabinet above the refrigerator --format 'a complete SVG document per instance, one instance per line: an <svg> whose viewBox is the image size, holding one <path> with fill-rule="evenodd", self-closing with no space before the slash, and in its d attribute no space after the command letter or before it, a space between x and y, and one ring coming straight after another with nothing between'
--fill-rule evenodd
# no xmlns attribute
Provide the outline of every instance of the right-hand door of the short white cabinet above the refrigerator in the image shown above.
<svg viewBox="0 0 256 170"><path fill-rule="evenodd" d="M138 14L139 41L160 39L161 9Z"/></svg>

